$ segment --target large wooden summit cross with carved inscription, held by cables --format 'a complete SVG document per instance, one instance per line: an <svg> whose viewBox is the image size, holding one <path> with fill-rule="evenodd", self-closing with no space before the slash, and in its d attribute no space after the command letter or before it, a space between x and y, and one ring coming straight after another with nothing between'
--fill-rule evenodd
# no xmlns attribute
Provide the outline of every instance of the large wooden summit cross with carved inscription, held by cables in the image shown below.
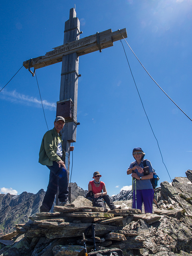
<svg viewBox="0 0 192 256"><path fill-rule="evenodd" d="M53 48L46 55L23 62L25 68L33 74L35 69L62 61L61 86L56 116L65 118L62 130L63 149L66 152L65 165L69 170L71 142L76 142L77 130L77 88L79 75L79 56L113 46L113 42L127 38L126 28L112 32L111 29L79 39L80 22L74 8L70 9L69 20L65 22L63 45ZM122 36L123 35L123 36ZM34 67L34 73L30 68ZM68 159L67 159L68 158Z"/></svg>

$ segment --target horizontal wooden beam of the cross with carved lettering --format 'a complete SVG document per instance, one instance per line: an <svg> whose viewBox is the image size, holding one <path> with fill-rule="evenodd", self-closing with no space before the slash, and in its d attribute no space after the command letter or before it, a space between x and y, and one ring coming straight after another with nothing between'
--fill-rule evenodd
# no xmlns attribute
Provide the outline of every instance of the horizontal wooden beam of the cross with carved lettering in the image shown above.
<svg viewBox="0 0 192 256"><path fill-rule="evenodd" d="M77 55L81 56L111 47L113 46L113 42L121 40L123 37L127 38L126 28L121 29L120 32L119 30L112 32L111 29L109 29L99 33L99 41L98 35L94 34L92 36L87 36L85 38L57 46L53 48L54 50L47 52L46 55L33 58L31 60L30 68L34 67L37 69L61 62L63 56L73 52L77 52ZM27 62L23 62L23 66L25 68L29 68L29 60Z"/></svg>

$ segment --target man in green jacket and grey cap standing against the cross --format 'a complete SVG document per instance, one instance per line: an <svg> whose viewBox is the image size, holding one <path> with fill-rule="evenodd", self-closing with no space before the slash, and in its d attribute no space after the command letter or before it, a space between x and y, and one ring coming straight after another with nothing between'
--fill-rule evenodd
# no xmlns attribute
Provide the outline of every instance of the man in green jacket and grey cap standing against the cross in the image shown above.
<svg viewBox="0 0 192 256"><path fill-rule="evenodd" d="M54 128L44 134L39 153L40 164L46 165L49 170L49 184L40 207L40 212L49 212L53 205L55 194L59 187L58 199L60 205L69 204L68 201L68 185L69 174L65 167L65 151L63 150L63 141L60 131L65 125L65 119L62 116L57 116L54 122ZM70 147L73 151L74 147Z"/></svg>

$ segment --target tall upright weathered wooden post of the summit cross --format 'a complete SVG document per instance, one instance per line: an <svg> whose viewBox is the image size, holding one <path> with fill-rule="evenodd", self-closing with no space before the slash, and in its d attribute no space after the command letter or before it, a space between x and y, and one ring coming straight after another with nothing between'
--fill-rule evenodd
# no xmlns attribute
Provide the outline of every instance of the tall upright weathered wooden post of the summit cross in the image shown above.
<svg viewBox="0 0 192 256"><path fill-rule="evenodd" d="M80 22L76 17L74 8L70 9L69 20L65 22L63 44L79 40ZM78 71L79 57L77 52L67 54L62 58L61 68L61 86L59 100L72 100L73 114L72 119L65 120L65 126L62 130L63 149L66 152L65 164L69 171L70 163L70 146L71 142L76 142L77 130L77 90L78 90ZM68 153L68 154L67 154ZM69 193L70 194L70 193Z"/></svg>

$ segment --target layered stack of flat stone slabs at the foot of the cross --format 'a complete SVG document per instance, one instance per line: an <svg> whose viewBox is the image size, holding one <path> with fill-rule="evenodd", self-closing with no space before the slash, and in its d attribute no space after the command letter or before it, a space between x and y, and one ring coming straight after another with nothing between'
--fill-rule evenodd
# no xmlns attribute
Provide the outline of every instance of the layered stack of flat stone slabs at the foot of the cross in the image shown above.
<svg viewBox="0 0 192 256"><path fill-rule="evenodd" d="M91 250L91 224L94 223L97 250L108 246L129 248L130 243L134 244L134 248L140 248L143 239L137 236L137 231L129 230L128 224L142 218L152 223L161 217L156 214L141 214L138 209L115 209L104 212L103 208L98 207L55 206L53 213L37 213L36 216L30 217L28 223L16 225L16 230L23 231L28 238L67 238L68 243L73 245L82 244L84 233ZM131 237L133 239L130 239Z"/></svg>

